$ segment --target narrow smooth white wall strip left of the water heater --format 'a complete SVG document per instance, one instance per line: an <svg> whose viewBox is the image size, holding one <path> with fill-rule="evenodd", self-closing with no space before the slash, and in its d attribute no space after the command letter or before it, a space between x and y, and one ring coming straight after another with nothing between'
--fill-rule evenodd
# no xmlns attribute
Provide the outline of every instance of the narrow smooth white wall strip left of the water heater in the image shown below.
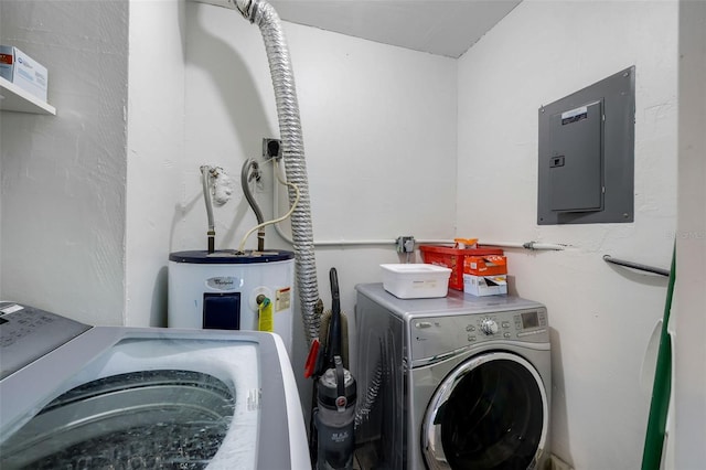
<svg viewBox="0 0 706 470"><path fill-rule="evenodd" d="M183 1L130 2L125 324L167 325L167 259L181 215Z"/></svg>

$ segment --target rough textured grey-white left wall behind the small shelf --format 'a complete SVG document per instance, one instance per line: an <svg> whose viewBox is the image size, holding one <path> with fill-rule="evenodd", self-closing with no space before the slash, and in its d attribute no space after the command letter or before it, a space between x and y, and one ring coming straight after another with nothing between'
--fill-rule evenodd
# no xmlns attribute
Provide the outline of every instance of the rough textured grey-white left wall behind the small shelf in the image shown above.
<svg viewBox="0 0 706 470"><path fill-rule="evenodd" d="M56 116L2 113L2 296L121 324L128 2L2 1Z"/></svg>

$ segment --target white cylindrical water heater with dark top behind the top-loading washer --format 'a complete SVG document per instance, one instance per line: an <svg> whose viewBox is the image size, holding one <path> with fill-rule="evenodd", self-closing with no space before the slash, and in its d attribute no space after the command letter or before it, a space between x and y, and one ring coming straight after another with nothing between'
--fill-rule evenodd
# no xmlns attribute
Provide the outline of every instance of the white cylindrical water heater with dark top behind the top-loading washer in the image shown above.
<svg viewBox="0 0 706 470"><path fill-rule="evenodd" d="M258 330L271 305L274 332L291 357L295 254L284 250L178 252L169 255L170 328Z"/></svg>

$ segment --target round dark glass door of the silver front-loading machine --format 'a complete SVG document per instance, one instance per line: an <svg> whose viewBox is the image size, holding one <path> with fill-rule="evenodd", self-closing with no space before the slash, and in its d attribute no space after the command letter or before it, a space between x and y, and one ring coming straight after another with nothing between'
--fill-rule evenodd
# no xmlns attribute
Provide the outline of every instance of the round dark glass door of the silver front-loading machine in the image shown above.
<svg viewBox="0 0 706 470"><path fill-rule="evenodd" d="M548 403L520 355L488 352L456 367L426 410L421 446L430 469L534 469L544 450Z"/></svg>

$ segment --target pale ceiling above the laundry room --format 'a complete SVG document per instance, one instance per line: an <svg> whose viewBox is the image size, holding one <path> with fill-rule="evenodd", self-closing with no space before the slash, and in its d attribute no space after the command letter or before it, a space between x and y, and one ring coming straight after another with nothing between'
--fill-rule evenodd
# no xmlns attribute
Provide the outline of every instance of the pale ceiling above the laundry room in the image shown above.
<svg viewBox="0 0 706 470"><path fill-rule="evenodd" d="M291 23L461 56L521 0L270 0Z"/></svg>

